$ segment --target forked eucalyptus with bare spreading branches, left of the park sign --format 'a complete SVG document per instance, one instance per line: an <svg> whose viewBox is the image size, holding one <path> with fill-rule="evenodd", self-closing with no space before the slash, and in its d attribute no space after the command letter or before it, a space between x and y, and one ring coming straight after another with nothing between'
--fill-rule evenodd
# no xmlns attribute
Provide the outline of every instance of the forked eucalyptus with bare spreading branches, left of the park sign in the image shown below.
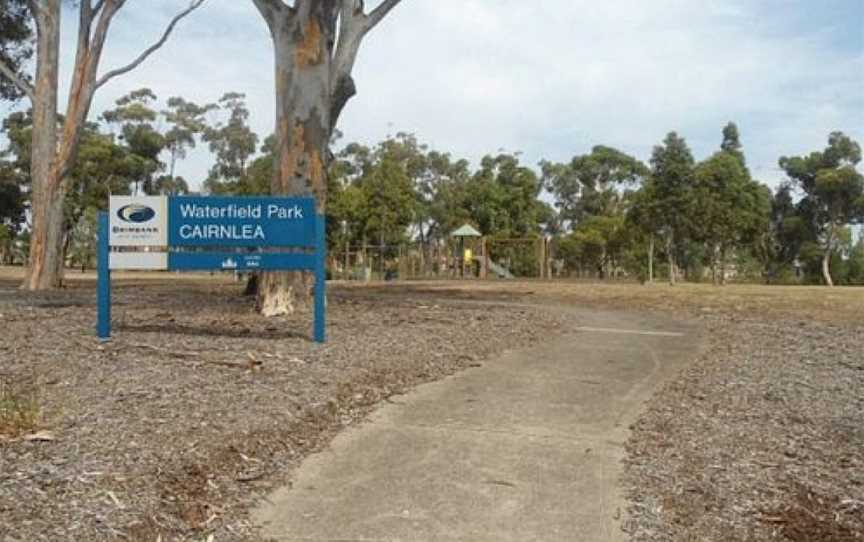
<svg viewBox="0 0 864 542"><path fill-rule="evenodd" d="M69 173L81 142L93 96L113 78L137 68L160 49L177 23L205 0L190 0L168 23L161 37L138 57L120 68L99 74L99 64L115 16L127 0L78 0L78 39L66 113L58 114L61 0L27 0L36 29L36 71L30 78L0 58L0 74L27 96L33 106L33 152L30 174L32 232L30 267L23 288L50 289L63 276L63 201ZM140 3L140 2L139 2Z"/></svg>

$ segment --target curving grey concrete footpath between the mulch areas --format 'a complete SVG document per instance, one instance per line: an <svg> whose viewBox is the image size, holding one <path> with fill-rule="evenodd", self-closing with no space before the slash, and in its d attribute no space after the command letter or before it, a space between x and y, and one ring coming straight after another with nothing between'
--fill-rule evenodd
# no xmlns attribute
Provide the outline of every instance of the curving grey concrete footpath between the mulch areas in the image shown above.
<svg viewBox="0 0 864 542"><path fill-rule="evenodd" d="M530 350L421 386L308 458L253 518L279 541L616 541L627 427L697 329L567 310Z"/></svg>

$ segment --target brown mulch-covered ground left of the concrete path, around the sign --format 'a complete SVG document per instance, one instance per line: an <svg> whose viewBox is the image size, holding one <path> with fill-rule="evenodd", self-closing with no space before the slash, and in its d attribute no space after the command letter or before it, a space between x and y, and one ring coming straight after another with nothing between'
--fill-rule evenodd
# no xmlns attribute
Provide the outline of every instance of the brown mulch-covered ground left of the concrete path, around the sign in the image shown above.
<svg viewBox="0 0 864 542"><path fill-rule="evenodd" d="M249 505L340 428L558 326L538 309L336 287L319 346L308 315L262 319L227 278L121 275L100 345L92 280L69 277L48 295L0 279L0 408L41 410L0 438L3 542L258 540Z"/></svg>

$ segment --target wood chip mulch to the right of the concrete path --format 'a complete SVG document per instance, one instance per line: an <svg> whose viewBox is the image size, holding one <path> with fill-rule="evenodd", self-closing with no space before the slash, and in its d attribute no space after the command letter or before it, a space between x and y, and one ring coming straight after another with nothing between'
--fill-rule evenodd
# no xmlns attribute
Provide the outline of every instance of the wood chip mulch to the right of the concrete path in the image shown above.
<svg viewBox="0 0 864 542"><path fill-rule="evenodd" d="M632 427L632 540L864 540L864 327L712 315Z"/></svg>

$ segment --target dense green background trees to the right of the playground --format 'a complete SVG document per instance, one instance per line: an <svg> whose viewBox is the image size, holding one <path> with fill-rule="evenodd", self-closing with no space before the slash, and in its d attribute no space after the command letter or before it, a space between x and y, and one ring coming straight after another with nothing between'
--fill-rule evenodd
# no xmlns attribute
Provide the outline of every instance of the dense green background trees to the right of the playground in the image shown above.
<svg viewBox="0 0 864 542"><path fill-rule="evenodd" d="M734 123L720 141L701 162L670 132L647 165L607 147L543 163L559 255L600 277L864 283L851 228L864 221L858 143L835 132L823 151L780 158L787 178L772 191L752 177Z"/></svg>

